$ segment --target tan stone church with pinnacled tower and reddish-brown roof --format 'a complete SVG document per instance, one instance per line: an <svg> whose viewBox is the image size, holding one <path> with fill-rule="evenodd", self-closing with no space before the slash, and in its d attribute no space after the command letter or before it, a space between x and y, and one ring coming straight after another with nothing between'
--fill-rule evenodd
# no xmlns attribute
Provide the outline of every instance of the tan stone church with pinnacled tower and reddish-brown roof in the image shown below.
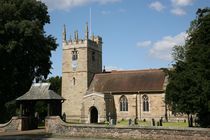
<svg viewBox="0 0 210 140"><path fill-rule="evenodd" d="M165 117L167 79L160 69L102 70L102 38L84 39L63 30L62 112L67 121L102 123L110 119L151 120Z"/></svg>

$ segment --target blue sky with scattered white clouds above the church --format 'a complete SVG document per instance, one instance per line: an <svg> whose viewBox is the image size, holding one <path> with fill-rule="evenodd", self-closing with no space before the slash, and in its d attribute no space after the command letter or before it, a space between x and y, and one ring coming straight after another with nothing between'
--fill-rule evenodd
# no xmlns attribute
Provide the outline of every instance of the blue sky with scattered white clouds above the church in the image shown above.
<svg viewBox="0 0 210 140"><path fill-rule="evenodd" d="M210 7L210 0L41 1L51 18L46 34L57 38L58 44L52 52L50 76L62 75L64 24L67 39L75 30L84 38L86 22L89 32L102 37L106 70L169 68L174 63L171 50L184 44L197 9Z"/></svg>

